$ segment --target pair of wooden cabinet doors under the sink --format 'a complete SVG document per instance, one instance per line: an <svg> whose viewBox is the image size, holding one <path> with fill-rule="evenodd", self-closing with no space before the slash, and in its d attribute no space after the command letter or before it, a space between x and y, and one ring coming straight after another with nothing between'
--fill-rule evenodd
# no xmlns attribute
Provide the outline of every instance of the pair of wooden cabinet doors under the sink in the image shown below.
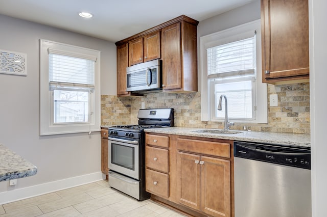
<svg viewBox="0 0 327 217"><path fill-rule="evenodd" d="M212 216L230 216L230 161L177 153L179 203Z"/></svg>

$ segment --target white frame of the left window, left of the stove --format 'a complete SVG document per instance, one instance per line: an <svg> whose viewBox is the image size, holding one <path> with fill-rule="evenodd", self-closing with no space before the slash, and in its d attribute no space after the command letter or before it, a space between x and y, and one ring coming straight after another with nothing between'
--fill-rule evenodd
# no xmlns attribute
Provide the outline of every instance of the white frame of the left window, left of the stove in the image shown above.
<svg viewBox="0 0 327 217"><path fill-rule="evenodd" d="M90 96L88 122L53 123L53 89L49 84L49 52L95 60L95 84ZM101 52L99 50L40 39L40 135L100 131Z"/></svg>

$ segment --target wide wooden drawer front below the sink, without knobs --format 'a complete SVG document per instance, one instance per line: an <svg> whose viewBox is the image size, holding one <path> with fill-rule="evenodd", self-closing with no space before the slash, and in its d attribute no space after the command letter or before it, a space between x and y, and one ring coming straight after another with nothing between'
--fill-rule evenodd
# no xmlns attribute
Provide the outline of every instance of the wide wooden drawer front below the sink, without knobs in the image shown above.
<svg viewBox="0 0 327 217"><path fill-rule="evenodd" d="M230 158L229 143L177 139L177 149L181 151Z"/></svg>

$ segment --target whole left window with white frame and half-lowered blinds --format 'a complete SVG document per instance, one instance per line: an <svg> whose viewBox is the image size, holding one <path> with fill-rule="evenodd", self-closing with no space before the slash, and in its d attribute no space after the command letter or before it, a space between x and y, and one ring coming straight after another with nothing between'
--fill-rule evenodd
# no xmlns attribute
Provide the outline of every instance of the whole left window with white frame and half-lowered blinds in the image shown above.
<svg viewBox="0 0 327 217"><path fill-rule="evenodd" d="M100 129L100 51L40 40L40 134Z"/></svg>

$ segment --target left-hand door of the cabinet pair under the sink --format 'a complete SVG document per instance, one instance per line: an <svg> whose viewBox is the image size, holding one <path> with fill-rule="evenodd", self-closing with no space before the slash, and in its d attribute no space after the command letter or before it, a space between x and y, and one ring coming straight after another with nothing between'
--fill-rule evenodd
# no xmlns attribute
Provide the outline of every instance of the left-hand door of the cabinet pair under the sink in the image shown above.
<svg viewBox="0 0 327 217"><path fill-rule="evenodd" d="M177 152L177 201L201 210L200 156Z"/></svg>

